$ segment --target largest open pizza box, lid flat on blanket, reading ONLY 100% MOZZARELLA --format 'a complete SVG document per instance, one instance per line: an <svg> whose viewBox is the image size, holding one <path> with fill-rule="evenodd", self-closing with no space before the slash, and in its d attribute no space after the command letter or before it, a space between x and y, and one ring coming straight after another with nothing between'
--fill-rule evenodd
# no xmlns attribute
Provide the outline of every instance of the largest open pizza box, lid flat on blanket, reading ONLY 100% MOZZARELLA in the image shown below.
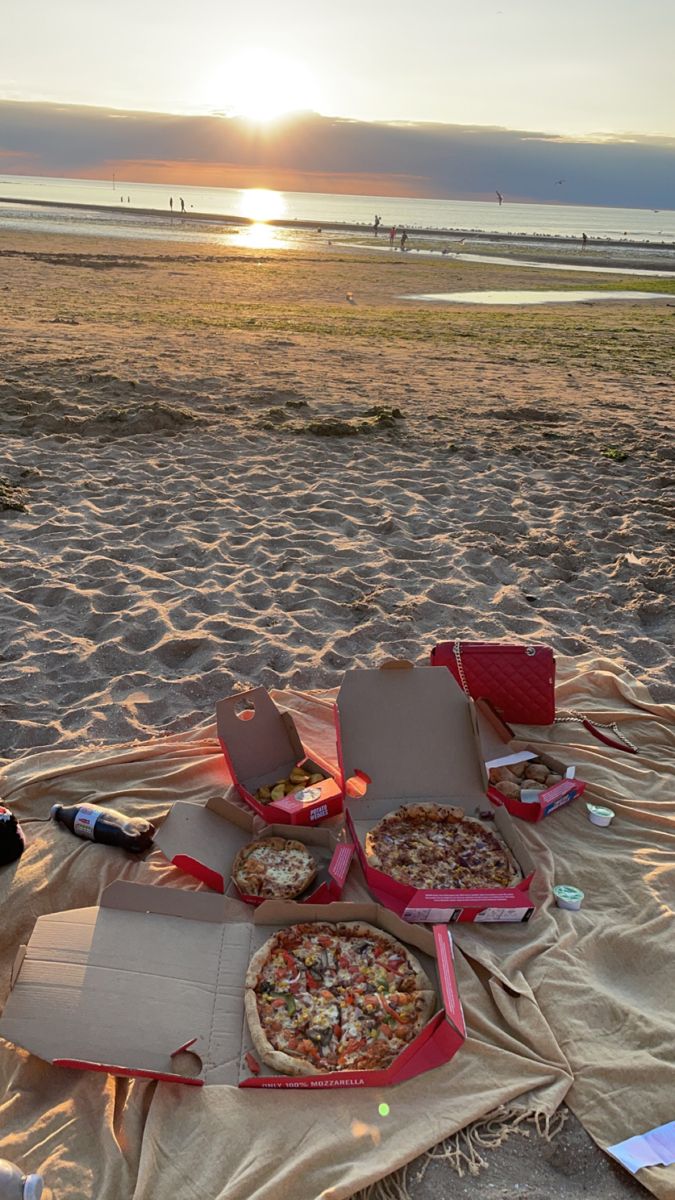
<svg viewBox="0 0 675 1200"><path fill-rule="evenodd" d="M263 1075L244 1013L249 962L283 925L325 919L366 920L410 944L440 1008L387 1070ZM375 1087L448 1062L466 1031L443 926L431 934L375 904L268 900L252 912L208 892L119 880L98 907L37 919L14 962L0 1036L58 1067L113 1075L197 1086Z"/></svg>

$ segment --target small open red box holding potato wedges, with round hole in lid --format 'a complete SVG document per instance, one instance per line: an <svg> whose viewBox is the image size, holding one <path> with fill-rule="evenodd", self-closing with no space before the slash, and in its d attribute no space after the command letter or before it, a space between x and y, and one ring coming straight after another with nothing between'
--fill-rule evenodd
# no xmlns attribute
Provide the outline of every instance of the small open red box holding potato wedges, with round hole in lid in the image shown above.
<svg viewBox="0 0 675 1200"><path fill-rule="evenodd" d="M293 718L276 707L267 688L220 700L216 725L229 778L263 821L309 826L342 811L342 788L334 769L303 745ZM256 799L258 787L287 779L298 766L327 778L269 804Z"/></svg>

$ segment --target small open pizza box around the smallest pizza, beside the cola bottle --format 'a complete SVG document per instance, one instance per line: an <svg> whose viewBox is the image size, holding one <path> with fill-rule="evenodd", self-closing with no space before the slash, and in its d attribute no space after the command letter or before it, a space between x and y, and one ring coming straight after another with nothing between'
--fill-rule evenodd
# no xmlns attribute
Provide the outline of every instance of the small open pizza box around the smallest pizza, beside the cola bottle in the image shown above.
<svg viewBox="0 0 675 1200"><path fill-rule="evenodd" d="M201 880L214 892L246 904L262 904L261 896L244 895L231 878L237 853L261 838L301 841L318 863L318 874L301 904L329 904L339 900L354 853L344 827L269 826L241 800L214 796L207 804L178 800L155 835L155 845L174 866Z"/></svg>

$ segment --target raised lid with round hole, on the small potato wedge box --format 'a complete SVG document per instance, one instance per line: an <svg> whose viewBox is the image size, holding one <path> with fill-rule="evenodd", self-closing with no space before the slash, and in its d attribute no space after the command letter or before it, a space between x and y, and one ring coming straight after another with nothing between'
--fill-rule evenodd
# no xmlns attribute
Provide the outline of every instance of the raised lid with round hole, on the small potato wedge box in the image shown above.
<svg viewBox="0 0 675 1200"><path fill-rule="evenodd" d="M216 703L217 736L240 784L263 779L286 767L291 770L305 756L289 713L276 707L267 688L228 696Z"/></svg>

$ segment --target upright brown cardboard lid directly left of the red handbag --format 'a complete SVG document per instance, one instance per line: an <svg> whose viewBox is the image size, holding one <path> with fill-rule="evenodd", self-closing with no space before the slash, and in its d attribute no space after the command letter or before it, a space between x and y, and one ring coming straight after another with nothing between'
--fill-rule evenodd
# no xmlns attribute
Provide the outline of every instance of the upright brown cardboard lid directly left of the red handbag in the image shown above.
<svg viewBox="0 0 675 1200"><path fill-rule="evenodd" d="M345 780L362 776L354 815L377 817L402 802L484 802L472 706L449 671L396 661L345 674L336 701Z"/></svg>

